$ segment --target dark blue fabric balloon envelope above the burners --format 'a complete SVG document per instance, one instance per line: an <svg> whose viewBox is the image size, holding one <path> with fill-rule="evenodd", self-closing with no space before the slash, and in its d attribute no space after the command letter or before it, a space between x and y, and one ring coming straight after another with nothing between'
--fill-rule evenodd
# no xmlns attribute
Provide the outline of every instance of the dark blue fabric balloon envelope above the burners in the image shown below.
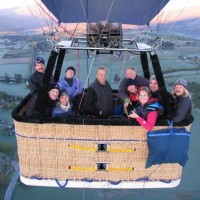
<svg viewBox="0 0 200 200"><path fill-rule="evenodd" d="M123 24L146 25L169 0L41 0L63 23L107 20Z"/></svg>

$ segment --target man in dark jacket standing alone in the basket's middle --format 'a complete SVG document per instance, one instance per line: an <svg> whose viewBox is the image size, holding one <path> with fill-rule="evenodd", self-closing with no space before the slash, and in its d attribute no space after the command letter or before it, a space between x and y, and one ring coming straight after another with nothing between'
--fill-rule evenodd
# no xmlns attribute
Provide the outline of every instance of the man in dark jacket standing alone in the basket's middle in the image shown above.
<svg viewBox="0 0 200 200"><path fill-rule="evenodd" d="M99 118L107 118L114 114L112 88L106 80L107 70L99 67L96 79L89 86L83 102L83 111L86 114Z"/></svg>

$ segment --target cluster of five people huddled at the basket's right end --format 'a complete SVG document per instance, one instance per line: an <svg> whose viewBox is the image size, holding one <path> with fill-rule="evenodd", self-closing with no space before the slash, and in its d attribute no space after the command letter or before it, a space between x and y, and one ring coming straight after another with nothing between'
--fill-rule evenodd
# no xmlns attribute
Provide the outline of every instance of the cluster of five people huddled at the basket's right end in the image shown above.
<svg viewBox="0 0 200 200"><path fill-rule="evenodd" d="M138 76L136 70L130 67L126 70L126 78L120 83L119 96L125 110L131 110L128 117L135 118L147 130L153 129L158 118L167 118L164 101L170 104L174 124L186 125L193 121L191 96L184 79L178 79L172 93L167 92L167 98L163 99L155 75L147 80ZM128 109L129 106L131 109Z"/></svg>

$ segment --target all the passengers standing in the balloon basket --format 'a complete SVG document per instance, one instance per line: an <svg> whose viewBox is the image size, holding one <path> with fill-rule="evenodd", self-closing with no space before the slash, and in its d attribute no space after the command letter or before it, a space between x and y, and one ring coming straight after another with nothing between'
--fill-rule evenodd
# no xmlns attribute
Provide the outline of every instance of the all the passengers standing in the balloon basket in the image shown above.
<svg viewBox="0 0 200 200"><path fill-rule="evenodd" d="M34 63L36 71L29 79L32 98L28 103L26 116L34 114L34 106L45 72L43 58L36 58ZM65 71L65 77L57 83L51 78L46 89L45 106L41 113L43 116L66 117L77 111L83 87L82 82L75 78L75 73L75 68L70 66ZM96 79L88 87L83 98L83 113L96 118L108 118L115 114L113 90L106 76L105 67L96 70ZM126 113L128 118L136 119L146 130L152 130L158 118L165 118L166 110L163 105L165 101L169 101L173 121L177 124L190 124L193 121L192 102L187 84L184 79L177 80L172 94L168 92L167 99L163 99L155 75L148 80L137 75L135 68L129 67L118 89L119 98L123 102L122 113Z"/></svg>

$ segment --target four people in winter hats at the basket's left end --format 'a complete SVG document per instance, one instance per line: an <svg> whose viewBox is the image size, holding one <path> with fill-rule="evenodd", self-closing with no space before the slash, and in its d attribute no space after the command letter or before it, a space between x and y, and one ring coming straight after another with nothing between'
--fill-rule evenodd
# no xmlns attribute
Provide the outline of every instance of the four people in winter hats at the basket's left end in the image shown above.
<svg viewBox="0 0 200 200"><path fill-rule="evenodd" d="M25 116L32 116L35 113L39 91L41 89L44 73L45 61L42 57L34 60L35 72L28 80L32 98L26 106ZM44 117L67 117L76 113L76 107L79 95L83 92L82 82L75 78L76 70L74 67L68 67L65 71L65 77L57 83L51 77L49 85L44 89L44 106L40 110L40 115Z"/></svg>

